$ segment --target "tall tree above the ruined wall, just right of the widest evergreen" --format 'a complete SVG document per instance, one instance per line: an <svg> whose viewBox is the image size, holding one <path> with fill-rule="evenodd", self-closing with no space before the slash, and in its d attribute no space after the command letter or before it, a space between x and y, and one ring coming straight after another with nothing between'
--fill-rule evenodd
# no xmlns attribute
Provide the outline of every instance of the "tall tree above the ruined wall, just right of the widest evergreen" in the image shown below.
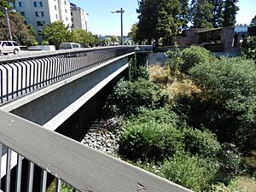
<svg viewBox="0 0 256 192"><path fill-rule="evenodd" d="M190 5L190 21L194 28L212 28L214 18L211 0L192 0Z"/></svg>

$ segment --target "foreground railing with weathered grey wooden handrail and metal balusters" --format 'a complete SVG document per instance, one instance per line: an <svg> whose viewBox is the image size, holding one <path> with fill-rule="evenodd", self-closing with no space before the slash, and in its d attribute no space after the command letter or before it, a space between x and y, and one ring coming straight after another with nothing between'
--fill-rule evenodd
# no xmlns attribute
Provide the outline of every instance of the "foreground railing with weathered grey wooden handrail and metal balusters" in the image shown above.
<svg viewBox="0 0 256 192"><path fill-rule="evenodd" d="M56 191L61 191L61 181L73 186L74 191L86 192L190 191L11 113L0 111L0 117L0 143L8 148L5 192L9 192L10 188L10 162L11 153L14 152L18 154L15 181L17 192L20 191L24 159L29 160L28 192L32 192L34 165L42 168L42 192L45 192L48 174L57 178Z"/></svg>

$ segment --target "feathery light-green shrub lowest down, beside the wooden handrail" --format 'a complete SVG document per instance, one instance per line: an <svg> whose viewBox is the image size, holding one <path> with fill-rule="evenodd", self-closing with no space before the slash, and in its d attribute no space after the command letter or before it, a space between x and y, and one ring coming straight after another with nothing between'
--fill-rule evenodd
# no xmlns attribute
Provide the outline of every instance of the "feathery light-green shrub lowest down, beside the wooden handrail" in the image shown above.
<svg viewBox="0 0 256 192"><path fill-rule="evenodd" d="M212 184L217 170L218 166L209 160L189 154L175 154L164 162L160 175L183 187L201 192Z"/></svg>

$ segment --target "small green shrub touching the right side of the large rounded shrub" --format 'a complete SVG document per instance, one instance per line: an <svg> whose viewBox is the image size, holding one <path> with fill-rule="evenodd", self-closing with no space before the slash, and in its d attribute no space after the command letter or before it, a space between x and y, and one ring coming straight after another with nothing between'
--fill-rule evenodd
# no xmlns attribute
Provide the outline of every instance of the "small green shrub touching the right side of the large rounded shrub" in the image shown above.
<svg viewBox="0 0 256 192"><path fill-rule="evenodd" d="M190 154L216 159L221 150L217 138L210 131L184 130L185 150Z"/></svg>

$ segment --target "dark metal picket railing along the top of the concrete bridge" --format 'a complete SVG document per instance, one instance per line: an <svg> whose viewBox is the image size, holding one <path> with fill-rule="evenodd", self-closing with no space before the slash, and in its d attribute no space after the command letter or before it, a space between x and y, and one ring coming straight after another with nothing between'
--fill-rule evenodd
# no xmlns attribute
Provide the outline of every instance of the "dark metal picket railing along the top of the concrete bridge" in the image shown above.
<svg viewBox="0 0 256 192"><path fill-rule="evenodd" d="M113 47L30 56L0 61L0 105L48 84L81 73L135 47Z"/></svg>

